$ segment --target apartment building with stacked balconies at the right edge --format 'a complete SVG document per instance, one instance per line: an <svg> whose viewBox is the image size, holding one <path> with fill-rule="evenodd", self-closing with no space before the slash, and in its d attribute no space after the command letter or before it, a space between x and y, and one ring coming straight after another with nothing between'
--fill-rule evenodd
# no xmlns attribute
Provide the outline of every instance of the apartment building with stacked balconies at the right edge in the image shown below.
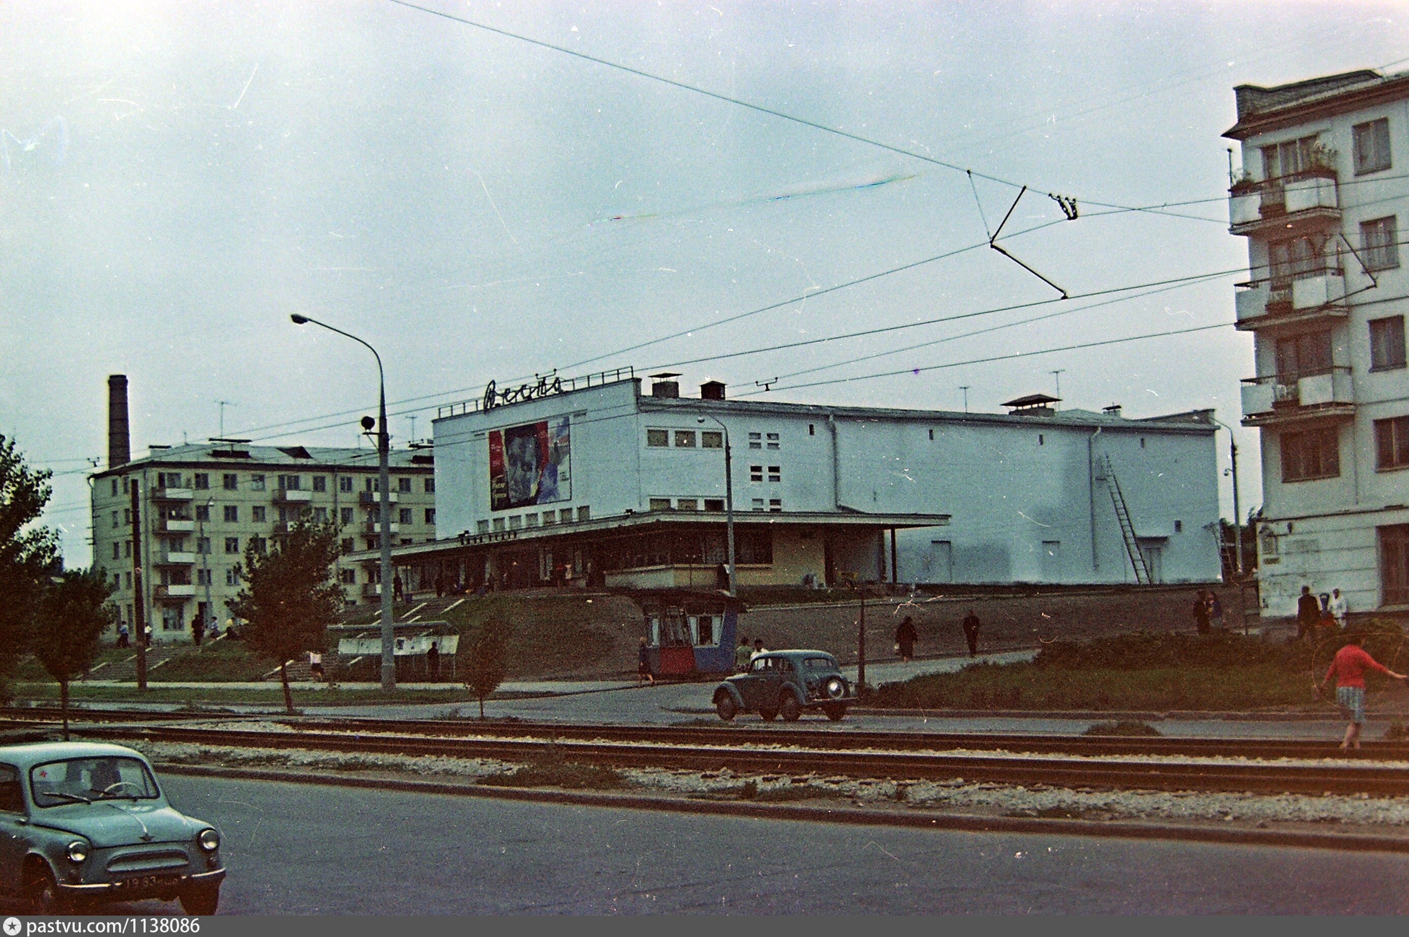
<svg viewBox="0 0 1409 937"><path fill-rule="evenodd" d="M1243 424L1262 440L1262 613L1303 585L1351 612L1409 607L1409 73L1371 70L1240 86L1243 175L1233 234L1248 238L1237 325L1257 376Z"/></svg>

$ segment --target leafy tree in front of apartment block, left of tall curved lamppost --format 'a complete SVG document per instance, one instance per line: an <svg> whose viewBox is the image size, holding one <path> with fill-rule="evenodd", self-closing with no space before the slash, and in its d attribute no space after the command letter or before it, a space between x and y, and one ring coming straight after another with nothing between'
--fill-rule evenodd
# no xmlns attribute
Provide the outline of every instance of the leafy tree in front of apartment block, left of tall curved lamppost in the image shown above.
<svg viewBox="0 0 1409 937"><path fill-rule="evenodd" d="M309 651L323 652L327 628L342 609L342 588L334 581L341 552L337 524L307 519L275 538L269 552L255 550L254 540L245 550L245 588L230 610L248 623L241 638L249 651L279 665L290 716L287 665Z"/></svg>

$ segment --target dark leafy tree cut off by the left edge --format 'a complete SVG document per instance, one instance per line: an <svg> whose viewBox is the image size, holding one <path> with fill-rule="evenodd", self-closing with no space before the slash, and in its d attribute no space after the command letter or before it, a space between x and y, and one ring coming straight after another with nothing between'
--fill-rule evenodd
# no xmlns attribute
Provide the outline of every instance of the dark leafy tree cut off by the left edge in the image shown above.
<svg viewBox="0 0 1409 937"><path fill-rule="evenodd" d="M0 435L0 697L24 650L45 576L59 564L59 538L34 527L52 493L49 472L24 462L13 440Z"/></svg>

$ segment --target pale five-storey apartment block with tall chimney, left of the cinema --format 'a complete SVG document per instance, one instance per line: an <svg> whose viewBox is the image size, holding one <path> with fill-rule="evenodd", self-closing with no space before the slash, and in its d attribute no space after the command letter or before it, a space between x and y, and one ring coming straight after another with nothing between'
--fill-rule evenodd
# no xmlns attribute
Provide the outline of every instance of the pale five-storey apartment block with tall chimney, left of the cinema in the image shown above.
<svg viewBox="0 0 1409 937"><path fill-rule="evenodd" d="M134 627L132 490L137 490L147 623L163 641L190 640L196 619L221 623L241 589L245 548L263 548L303 516L334 520L342 551L380 548L376 449L248 445L237 440L151 447L128 458L125 380L110 379L108 468L92 476L93 566ZM434 458L392 452L392 535L435 540ZM379 569L338 562L349 604L379 602Z"/></svg>

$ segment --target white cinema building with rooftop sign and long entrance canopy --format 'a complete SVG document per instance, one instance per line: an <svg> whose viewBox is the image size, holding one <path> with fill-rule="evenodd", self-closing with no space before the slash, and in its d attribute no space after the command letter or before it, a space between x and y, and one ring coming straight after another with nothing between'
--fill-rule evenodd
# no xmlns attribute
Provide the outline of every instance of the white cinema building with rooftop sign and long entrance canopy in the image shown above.
<svg viewBox="0 0 1409 937"><path fill-rule="evenodd" d="M397 565L417 588L714 588L727 447L740 585L1219 579L1206 411L827 407L726 400L717 382L681 397L672 378L442 407L440 531L455 542L397 548Z"/></svg>

